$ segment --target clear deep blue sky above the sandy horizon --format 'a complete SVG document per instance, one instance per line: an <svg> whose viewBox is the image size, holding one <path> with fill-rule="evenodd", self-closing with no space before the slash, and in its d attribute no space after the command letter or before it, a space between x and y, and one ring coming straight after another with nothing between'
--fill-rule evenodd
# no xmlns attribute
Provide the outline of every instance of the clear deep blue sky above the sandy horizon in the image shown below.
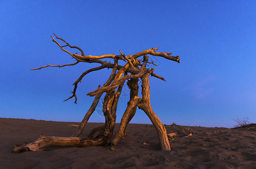
<svg viewBox="0 0 256 169"><path fill-rule="evenodd" d="M233 127L233 119L256 123L256 1L0 1L0 117L82 121L111 70L83 78L99 66L74 63L52 42L56 33L85 55L125 55L159 47L181 63L150 57L159 66L150 77L151 105L163 124ZM79 52L70 50L72 53ZM120 62L121 63L121 62ZM123 88L120 122L129 91ZM100 106L89 122L104 122ZM138 110L132 123L151 123Z"/></svg>

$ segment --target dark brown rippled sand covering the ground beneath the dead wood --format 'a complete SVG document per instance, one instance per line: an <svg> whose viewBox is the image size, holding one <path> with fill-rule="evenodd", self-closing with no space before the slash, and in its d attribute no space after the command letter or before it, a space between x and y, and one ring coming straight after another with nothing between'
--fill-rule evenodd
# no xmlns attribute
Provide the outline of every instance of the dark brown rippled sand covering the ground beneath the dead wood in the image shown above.
<svg viewBox="0 0 256 169"><path fill-rule="evenodd" d="M41 134L71 136L77 127L69 124L79 123L0 118L0 168L256 168L256 132L246 128L167 125L168 134L180 137L170 141L171 151L162 151L152 125L129 124L114 151L109 146L50 146L42 152L12 153L15 144L31 143ZM80 137L102 124L88 123ZM190 131L193 135L185 137Z"/></svg>

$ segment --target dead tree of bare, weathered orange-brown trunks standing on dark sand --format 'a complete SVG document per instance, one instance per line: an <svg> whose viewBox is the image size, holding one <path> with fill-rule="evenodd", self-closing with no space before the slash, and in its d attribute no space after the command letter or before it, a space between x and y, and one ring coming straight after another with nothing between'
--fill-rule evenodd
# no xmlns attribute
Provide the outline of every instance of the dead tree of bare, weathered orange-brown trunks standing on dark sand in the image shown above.
<svg viewBox="0 0 256 169"><path fill-rule="evenodd" d="M76 97L76 89L78 87L78 83L82 81L83 77L93 71L104 69L104 68L111 68L112 73L109 76L109 79L105 82L102 87L98 87L97 90L89 92L87 95L95 96L91 107L89 108L88 112L84 116L82 122L80 123L78 130L71 137L55 137L55 136L44 136L41 135L39 139L33 141L29 144L23 145L16 145L14 147L14 152L24 152L24 151L38 151L44 150L47 146L50 145L59 145L59 146L89 146L89 145L110 145L111 150L115 149L115 146L118 144L120 140L126 135L126 127L127 124L131 121L136 113L136 108L142 109L147 116L150 118L157 134L159 136L159 141L161 145L161 149L163 150L170 150L170 145L167 137L167 132L163 124L161 123L160 119L157 115L153 112L150 104L150 81L149 75L152 77L159 78L163 81L165 79L160 75L153 73L155 69L147 69L147 64L153 64L153 62L148 62L148 55L153 56L160 56L164 57L168 60L176 61L180 63L179 56L170 56L172 53L170 52L156 52L159 47L157 48L150 48L148 50L144 50L142 52L138 52L135 55L126 56L120 51L120 55L101 55L101 56L91 56L91 55L84 55L84 51L79 48L78 46L71 46L67 43L63 38L57 37L54 34L56 39L59 39L65 45L60 45L56 39L52 37L52 41L55 42L62 51L67 52L76 60L73 64L65 64L65 65L46 65L42 66L41 68L31 69L31 70L39 70L42 68L46 68L49 66L53 67L63 67L63 66L71 66L76 65L78 63L98 63L100 66L96 68L92 68L87 70L86 72L82 73L80 77L75 81L74 90L72 91L72 95L66 99L65 101L71 99L72 97L75 98L75 104L77 101ZM64 47L75 48L81 52L80 55L71 54L68 50L65 50ZM142 60L139 60L139 57L143 56ZM110 61L103 61L101 59L113 59L114 63ZM125 61L124 65L118 64L119 61ZM139 78L142 82L142 97L138 97L139 92ZM116 111L117 111L117 103L120 97L122 87L127 80L127 86L130 89L130 100L127 104L127 108L123 113L123 117L121 119L120 128L118 130L117 135L112 139L113 130L116 125ZM87 139L78 137L82 134L86 123L88 122L89 117L95 111L97 104L103 93L106 93L104 97L103 103L103 113L105 116L105 125L94 128L91 133L88 135ZM97 134L97 135L96 135ZM96 136L95 136L96 135Z"/></svg>

